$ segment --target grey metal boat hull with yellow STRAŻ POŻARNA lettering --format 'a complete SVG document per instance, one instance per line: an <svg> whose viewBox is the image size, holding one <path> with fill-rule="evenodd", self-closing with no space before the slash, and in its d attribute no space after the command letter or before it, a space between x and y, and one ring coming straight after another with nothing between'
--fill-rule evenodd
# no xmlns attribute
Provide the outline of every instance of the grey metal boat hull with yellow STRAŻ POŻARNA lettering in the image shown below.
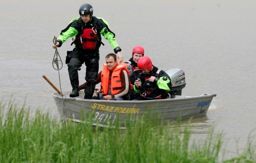
<svg viewBox="0 0 256 163"><path fill-rule="evenodd" d="M83 99L83 91L75 98L71 92L52 94L61 118L75 122L87 122L101 127L126 128L144 118L150 122L170 122L177 118L185 119L206 115L211 101L216 94L200 96L175 96L172 99L147 101L105 101ZM64 115L64 116L63 116Z"/></svg>

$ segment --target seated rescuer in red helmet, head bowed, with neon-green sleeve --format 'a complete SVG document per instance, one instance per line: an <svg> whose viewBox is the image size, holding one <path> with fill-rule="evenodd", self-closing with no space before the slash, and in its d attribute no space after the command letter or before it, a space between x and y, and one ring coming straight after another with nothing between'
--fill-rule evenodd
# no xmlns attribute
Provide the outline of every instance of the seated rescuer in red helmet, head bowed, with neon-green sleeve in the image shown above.
<svg viewBox="0 0 256 163"><path fill-rule="evenodd" d="M147 56L141 57L137 65L142 73L134 84L134 91L140 93L140 97L134 101L166 99L168 91L172 88L171 77L163 70L155 67Z"/></svg>

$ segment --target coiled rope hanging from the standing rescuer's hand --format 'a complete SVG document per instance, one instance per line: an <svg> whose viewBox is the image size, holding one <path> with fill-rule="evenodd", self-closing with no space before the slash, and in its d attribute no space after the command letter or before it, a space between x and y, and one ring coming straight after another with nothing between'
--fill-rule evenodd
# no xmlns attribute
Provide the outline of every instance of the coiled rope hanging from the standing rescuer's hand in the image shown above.
<svg viewBox="0 0 256 163"><path fill-rule="evenodd" d="M53 38L53 43L56 45L57 43L57 38L54 36ZM56 57L56 58L55 58ZM54 54L54 57L53 57L53 68L55 70L58 70L58 73L59 73L59 81L60 81L60 69L63 67L63 63L62 63L62 60L61 58L58 59L58 57L60 58L60 55L59 55L59 52L58 52L58 49L57 47L55 48L55 54ZM61 63L61 68L59 67L59 61ZM57 68L54 67L54 64L56 64ZM67 121L67 113L66 113L66 106L65 106L65 102L64 102L64 99L63 99L63 94L62 94L62 90L61 90L61 84L60 84L60 92L61 92L61 97L62 97L62 103L63 103L63 122L65 124L65 122ZM66 124L65 124L66 125Z"/></svg>

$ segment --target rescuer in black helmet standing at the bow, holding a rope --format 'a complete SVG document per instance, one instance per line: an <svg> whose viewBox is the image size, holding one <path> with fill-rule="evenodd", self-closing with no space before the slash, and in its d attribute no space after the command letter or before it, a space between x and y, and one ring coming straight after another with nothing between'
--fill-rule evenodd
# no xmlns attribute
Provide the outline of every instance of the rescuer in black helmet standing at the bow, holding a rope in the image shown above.
<svg viewBox="0 0 256 163"><path fill-rule="evenodd" d="M79 8L79 14L80 17L71 20L69 25L61 31L57 42L52 47L54 49L60 47L68 38L75 36L75 41L72 44L74 43L76 46L73 51L67 52L66 57L69 79L73 88L70 97L79 96L78 70L81 70L80 67L85 63L85 80L87 84L84 90L84 98L91 99L95 89L97 74L99 73L99 48L101 44L104 45L101 42L101 35L109 41L120 63L123 61L123 56L121 48L115 39L115 34L109 29L108 22L103 18L93 16L93 7L90 4L83 4Z"/></svg>

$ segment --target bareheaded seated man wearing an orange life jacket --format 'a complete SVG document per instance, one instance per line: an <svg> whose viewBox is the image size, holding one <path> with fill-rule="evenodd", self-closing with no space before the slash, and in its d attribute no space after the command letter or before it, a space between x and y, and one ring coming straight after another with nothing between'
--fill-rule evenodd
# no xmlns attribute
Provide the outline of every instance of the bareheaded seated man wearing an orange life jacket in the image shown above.
<svg viewBox="0 0 256 163"><path fill-rule="evenodd" d="M106 63L98 73L95 84L100 84L101 95L93 96L93 100L129 100L129 70L126 63L118 63L116 54L110 53L106 56ZM79 89L84 89L87 82L79 85Z"/></svg>

